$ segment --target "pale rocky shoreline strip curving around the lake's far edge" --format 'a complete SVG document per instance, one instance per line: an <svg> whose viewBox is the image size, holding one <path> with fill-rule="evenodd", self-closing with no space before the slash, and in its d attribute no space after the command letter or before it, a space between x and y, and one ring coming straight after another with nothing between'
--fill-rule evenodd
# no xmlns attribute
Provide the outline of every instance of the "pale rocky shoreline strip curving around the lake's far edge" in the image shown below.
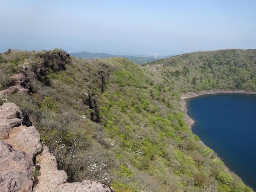
<svg viewBox="0 0 256 192"><path fill-rule="evenodd" d="M193 120L188 114L188 109L186 107L186 99L193 98L193 97L199 97L199 96L204 96L204 95L213 95L213 94L219 94L219 93L243 93L243 94L253 94L256 95L255 91L245 91L245 90L209 90L209 91L201 91L198 93L187 93L183 94L181 96L181 110L184 113L185 119L187 124L189 125L189 128L191 130L192 125L194 125L195 120ZM192 130L191 130L192 131Z"/></svg>

